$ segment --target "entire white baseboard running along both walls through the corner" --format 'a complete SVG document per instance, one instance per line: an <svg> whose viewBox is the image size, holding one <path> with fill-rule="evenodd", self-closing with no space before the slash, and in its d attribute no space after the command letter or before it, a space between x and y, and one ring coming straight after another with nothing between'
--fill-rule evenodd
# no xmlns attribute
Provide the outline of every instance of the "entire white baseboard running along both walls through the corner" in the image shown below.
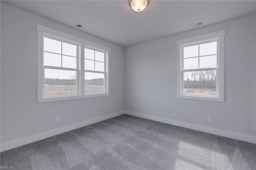
<svg viewBox="0 0 256 170"><path fill-rule="evenodd" d="M136 113L136 112L131 112L131 111L120 111L120 112L112 113L112 114L105 115L105 116L102 116L102 117L97 117L97 118L90 119L90 120L87 120L87 121L83 121L83 122L75 123L75 124L72 124L72 125L68 125L66 127L56 128L56 129L49 130L49 131L46 131L46 132L34 134L34 135L31 135L31 136L27 136L27 137L16 139L16 140L12 140L10 142L5 142L5 143L0 144L0 150L1 150L1 152L3 152L5 150L16 148L16 147L22 146L24 144L29 144L29 143L32 143L32 142L36 142L36 141L42 140L44 138L48 138L48 137L51 137L51 136L54 136L54 135L57 135L57 134L68 132L68 131L74 130L76 128L91 125L93 123L104 121L106 119L110 119L112 117L120 116L120 115L123 115L123 114L132 115L132 116L136 116L136 117L141 117L141 118L145 118L145 119L150 119L150 120L153 120L153 121L167 123L167 124L170 124L170 125L176 125L176 126L179 126L179 127L190 128L190 129L194 129L194 130L198 130L198 131L202 131L202 132L206 132L206 133L216 134L216 135L219 135L219 136L224 136L224 137L233 138L233 139L242 140L242 141L245 141L245 142L251 142L251 143L256 144L256 136L249 136L249 135L246 135L246 134L240 134L240 133L230 132L230 131L226 131L226 130L220 130L220 129L216 129L216 128L194 125L194 124L191 124L191 123L184 123L184 122L180 122L180 121L174 121L172 119L166 119L166 118L162 118L162 117L145 115L145 114L142 114L142 113Z"/></svg>

